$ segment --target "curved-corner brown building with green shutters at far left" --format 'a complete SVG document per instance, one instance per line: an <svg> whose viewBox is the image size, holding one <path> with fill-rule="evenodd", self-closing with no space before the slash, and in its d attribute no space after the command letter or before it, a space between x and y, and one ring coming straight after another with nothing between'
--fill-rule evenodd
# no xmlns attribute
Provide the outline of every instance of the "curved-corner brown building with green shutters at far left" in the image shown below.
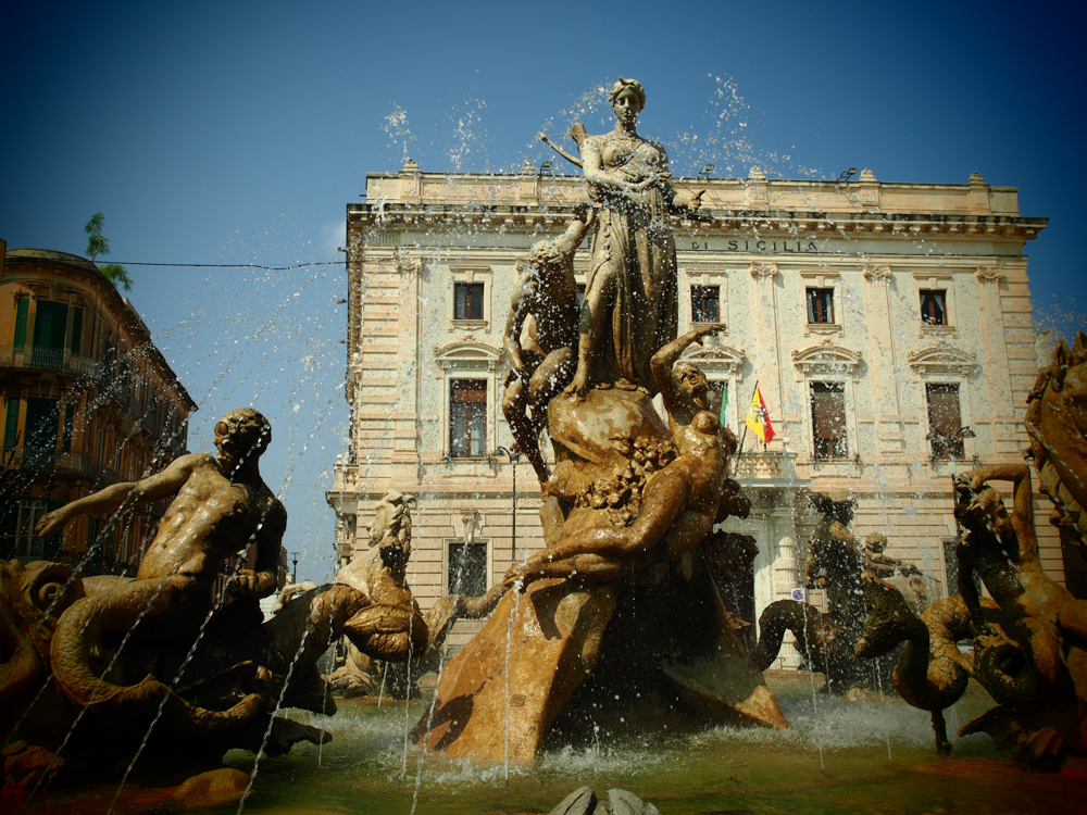
<svg viewBox="0 0 1087 815"><path fill-rule="evenodd" d="M42 514L185 452L197 405L136 313L90 261L13 249L0 271L0 557L129 574L165 510L85 516L34 535Z"/></svg>

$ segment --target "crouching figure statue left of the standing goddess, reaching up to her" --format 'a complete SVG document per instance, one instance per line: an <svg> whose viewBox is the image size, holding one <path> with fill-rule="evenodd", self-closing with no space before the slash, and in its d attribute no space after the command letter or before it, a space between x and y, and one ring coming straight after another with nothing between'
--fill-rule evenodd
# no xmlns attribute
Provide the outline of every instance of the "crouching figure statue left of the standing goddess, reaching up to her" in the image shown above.
<svg viewBox="0 0 1087 815"><path fill-rule="evenodd" d="M525 453L540 484L550 475L540 454L539 435L547 424L547 405L574 374L577 353L577 284L574 252L595 220L579 206L566 230L533 247L524 266L510 316L505 322L505 377L502 412L517 448ZM523 341L523 335L526 341Z"/></svg>

